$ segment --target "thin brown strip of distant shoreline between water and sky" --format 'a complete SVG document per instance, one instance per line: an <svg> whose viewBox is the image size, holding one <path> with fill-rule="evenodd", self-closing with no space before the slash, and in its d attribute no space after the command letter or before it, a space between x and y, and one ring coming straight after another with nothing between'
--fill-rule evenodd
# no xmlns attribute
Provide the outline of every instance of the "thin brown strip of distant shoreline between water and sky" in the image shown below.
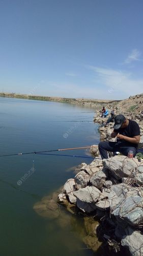
<svg viewBox="0 0 143 256"><path fill-rule="evenodd" d="M20 99L31 99L31 100L43 100L43 101L55 101L78 105L91 105L97 106L101 104L120 102L121 100L98 100L98 99L79 99L79 98L62 98L62 97L48 97L48 96L38 96L38 95L26 95L26 94L16 94L16 93L0 93L0 97L9 98L20 98Z"/></svg>

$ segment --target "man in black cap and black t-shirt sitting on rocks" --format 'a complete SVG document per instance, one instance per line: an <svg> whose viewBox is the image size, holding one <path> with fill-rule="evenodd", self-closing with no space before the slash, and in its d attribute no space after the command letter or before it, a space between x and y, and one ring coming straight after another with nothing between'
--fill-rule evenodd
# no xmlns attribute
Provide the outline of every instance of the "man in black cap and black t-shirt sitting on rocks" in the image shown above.
<svg viewBox="0 0 143 256"><path fill-rule="evenodd" d="M138 143L140 141L140 129L137 122L127 119L123 115L115 117L115 125L113 126L112 138L117 137L116 142L102 141L98 148L102 159L107 159L109 152L120 152L128 156L129 151L133 151L133 157L137 153Z"/></svg>

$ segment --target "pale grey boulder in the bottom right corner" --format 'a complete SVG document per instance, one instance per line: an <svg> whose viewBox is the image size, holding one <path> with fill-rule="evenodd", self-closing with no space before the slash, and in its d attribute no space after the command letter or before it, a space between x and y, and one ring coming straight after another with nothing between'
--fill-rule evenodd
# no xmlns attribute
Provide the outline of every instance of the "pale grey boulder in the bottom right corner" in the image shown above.
<svg viewBox="0 0 143 256"><path fill-rule="evenodd" d="M126 235L121 240L122 246L128 247L131 255L143 255L143 234L130 227L125 229Z"/></svg>

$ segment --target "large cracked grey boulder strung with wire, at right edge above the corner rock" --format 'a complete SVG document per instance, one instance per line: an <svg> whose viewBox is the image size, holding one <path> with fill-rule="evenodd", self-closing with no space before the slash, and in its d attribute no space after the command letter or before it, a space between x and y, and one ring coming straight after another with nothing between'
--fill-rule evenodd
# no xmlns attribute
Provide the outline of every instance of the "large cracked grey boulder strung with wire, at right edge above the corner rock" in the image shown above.
<svg viewBox="0 0 143 256"><path fill-rule="evenodd" d="M122 188L119 188L119 185ZM111 214L122 222L126 222L132 226L143 224L143 188L132 187L125 184L114 185L108 196ZM118 189L115 189L115 187Z"/></svg>

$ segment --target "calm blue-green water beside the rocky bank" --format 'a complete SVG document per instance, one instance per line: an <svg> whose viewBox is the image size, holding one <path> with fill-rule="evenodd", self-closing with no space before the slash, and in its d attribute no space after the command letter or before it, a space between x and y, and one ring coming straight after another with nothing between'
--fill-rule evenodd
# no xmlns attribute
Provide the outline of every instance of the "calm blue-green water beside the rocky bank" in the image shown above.
<svg viewBox="0 0 143 256"><path fill-rule="evenodd" d="M0 98L0 106L0 155L99 142L98 126L93 123L94 109L14 98ZM85 150L62 154L88 156ZM74 177L72 166L91 161L33 154L1 157L1 256L93 255L80 238L79 218L70 215L69 224L62 226L42 218L33 209L42 197ZM25 174L29 176L22 180Z"/></svg>

